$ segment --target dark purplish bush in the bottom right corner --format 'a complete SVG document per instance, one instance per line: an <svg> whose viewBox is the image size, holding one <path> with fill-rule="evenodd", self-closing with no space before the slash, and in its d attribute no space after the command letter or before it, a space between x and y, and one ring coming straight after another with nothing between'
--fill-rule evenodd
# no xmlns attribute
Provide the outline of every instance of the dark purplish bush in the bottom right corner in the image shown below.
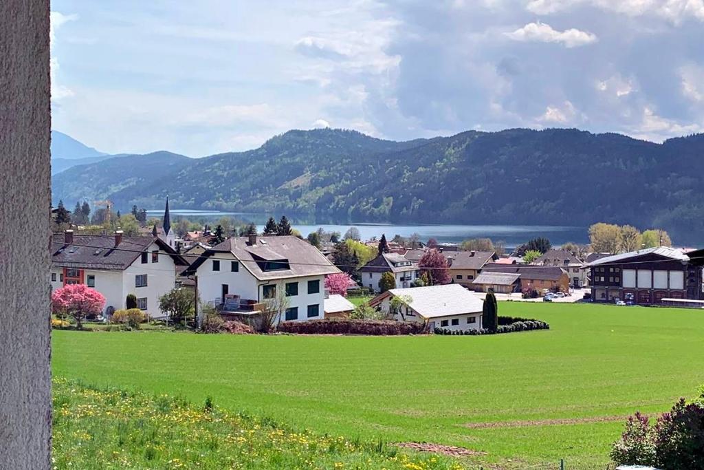
<svg viewBox="0 0 704 470"><path fill-rule="evenodd" d="M704 389L692 403L684 398L650 424L648 416L630 416L611 450L616 464L660 469L704 469Z"/></svg>

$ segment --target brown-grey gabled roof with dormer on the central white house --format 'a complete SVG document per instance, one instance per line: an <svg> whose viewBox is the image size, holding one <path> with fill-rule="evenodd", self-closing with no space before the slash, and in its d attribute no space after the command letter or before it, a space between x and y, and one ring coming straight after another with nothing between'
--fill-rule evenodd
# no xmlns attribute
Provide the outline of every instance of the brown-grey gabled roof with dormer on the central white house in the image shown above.
<svg viewBox="0 0 704 470"><path fill-rule="evenodd" d="M219 245L206 249L185 271L195 274L199 266L210 256L231 253L258 280L296 278L301 276L325 276L339 273L318 248L298 237L258 236L256 244L249 244L249 237L228 238ZM277 263L275 261L282 261ZM285 262L284 262L285 261ZM284 269L267 270L267 263Z"/></svg>

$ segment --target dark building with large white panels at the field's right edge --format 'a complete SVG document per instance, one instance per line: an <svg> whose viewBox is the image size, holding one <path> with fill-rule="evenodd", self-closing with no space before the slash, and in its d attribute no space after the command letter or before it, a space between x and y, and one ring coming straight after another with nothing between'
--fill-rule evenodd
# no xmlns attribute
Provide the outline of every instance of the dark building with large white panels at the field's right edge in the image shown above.
<svg viewBox="0 0 704 470"><path fill-rule="evenodd" d="M664 299L704 299L703 254L704 250L685 253L654 247L596 259L589 264L591 298L615 302L632 296L641 305L666 303Z"/></svg>

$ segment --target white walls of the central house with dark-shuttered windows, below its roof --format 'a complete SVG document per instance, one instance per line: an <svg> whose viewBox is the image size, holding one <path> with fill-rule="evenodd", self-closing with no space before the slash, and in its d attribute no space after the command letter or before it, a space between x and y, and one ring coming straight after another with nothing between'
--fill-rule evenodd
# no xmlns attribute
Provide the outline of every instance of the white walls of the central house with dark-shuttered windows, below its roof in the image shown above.
<svg viewBox="0 0 704 470"><path fill-rule="evenodd" d="M216 271L214 266L217 266L219 271ZM237 271L234 271L235 269ZM325 316L325 276L322 274L258 280L232 253L218 253L217 259L206 259L198 267L196 276L198 295L205 304L220 304L223 292L239 295L242 299L264 302L267 295L288 291L290 295L286 297L287 313L282 314L280 321L320 320ZM274 292L271 286L274 286Z"/></svg>

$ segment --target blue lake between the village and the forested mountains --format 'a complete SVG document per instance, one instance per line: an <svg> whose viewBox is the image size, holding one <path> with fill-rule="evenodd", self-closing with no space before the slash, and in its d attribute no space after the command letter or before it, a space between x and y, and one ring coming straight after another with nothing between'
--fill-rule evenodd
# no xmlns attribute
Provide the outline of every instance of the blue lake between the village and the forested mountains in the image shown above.
<svg viewBox="0 0 704 470"><path fill-rule="evenodd" d="M216 221L222 216L241 218L259 223L260 231L264 229L261 221L265 220L262 214L247 214L244 212L223 212L223 211L196 211L190 209L173 209L170 211L172 218L179 216L186 218L207 218ZM149 216L161 216L163 209L147 211ZM268 216L267 216L268 217ZM386 234L386 238L391 240L394 235L408 237L412 233L420 235L421 241L434 238L440 243L460 243L468 238L491 238L491 240L503 241L506 247L513 248L534 237L546 237L553 245L562 245L565 242L587 243L588 235L586 227L559 226L559 225L395 225L385 223L349 223L349 224L310 224L291 223L291 226L301 232L304 237L309 233L322 227L326 232L337 231L344 235L351 228L356 227L362 240L369 240L372 237L381 237Z"/></svg>

